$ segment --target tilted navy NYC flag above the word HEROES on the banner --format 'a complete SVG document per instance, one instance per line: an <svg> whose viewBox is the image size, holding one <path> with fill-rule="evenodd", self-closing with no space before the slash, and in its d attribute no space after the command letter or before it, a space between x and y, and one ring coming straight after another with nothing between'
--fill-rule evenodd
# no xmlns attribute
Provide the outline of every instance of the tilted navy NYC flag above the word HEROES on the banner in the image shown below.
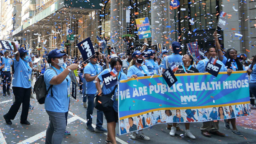
<svg viewBox="0 0 256 144"><path fill-rule="evenodd" d="M217 77L220 72L221 65L216 62L217 60L211 57L209 62L206 64L205 71Z"/></svg>

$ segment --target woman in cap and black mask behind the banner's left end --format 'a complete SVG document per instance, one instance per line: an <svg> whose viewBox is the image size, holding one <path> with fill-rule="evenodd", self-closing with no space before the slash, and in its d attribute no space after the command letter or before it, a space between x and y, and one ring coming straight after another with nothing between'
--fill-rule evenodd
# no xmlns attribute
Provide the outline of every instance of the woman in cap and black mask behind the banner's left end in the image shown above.
<svg viewBox="0 0 256 144"><path fill-rule="evenodd" d="M142 65L143 53L141 53L139 50L136 50L132 54L132 61L130 62L130 67L128 68L127 77L131 78L132 76L134 78L140 77L140 76L150 76L147 66Z"/></svg>

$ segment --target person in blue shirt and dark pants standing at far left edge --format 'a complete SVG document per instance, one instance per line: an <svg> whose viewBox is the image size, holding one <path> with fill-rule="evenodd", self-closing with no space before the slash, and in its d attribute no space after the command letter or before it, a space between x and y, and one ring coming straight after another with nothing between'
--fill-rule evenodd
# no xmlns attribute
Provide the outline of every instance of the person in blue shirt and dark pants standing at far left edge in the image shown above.
<svg viewBox="0 0 256 144"><path fill-rule="evenodd" d="M3 64L4 69L2 70L2 81L3 81L3 96L6 96L7 94L10 96L10 85L11 85L11 66L12 66L12 59L8 58L8 51L4 52L4 58L3 58ZM7 88L6 88L6 82L7 82Z"/></svg>

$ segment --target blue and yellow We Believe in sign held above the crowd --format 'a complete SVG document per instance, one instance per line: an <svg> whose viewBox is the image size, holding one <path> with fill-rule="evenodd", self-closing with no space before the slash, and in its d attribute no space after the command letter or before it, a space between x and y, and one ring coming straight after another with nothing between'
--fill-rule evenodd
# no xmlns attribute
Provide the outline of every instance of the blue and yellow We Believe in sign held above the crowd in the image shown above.
<svg viewBox="0 0 256 144"><path fill-rule="evenodd" d="M151 38L150 24L148 17L146 18L137 18L136 27L139 34L139 39Z"/></svg>

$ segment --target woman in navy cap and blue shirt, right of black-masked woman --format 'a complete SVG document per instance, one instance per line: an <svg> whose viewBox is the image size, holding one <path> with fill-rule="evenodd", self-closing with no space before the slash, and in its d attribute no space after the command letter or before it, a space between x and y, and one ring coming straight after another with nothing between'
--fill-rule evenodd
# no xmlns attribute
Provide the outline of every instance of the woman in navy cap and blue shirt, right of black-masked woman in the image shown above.
<svg viewBox="0 0 256 144"><path fill-rule="evenodd" d="M145 65L148 67L150 75L157 75L159 74L159 66L155 60L155 51L152 50L150 54L148 54L148 59L145 62Z"/></svg>

